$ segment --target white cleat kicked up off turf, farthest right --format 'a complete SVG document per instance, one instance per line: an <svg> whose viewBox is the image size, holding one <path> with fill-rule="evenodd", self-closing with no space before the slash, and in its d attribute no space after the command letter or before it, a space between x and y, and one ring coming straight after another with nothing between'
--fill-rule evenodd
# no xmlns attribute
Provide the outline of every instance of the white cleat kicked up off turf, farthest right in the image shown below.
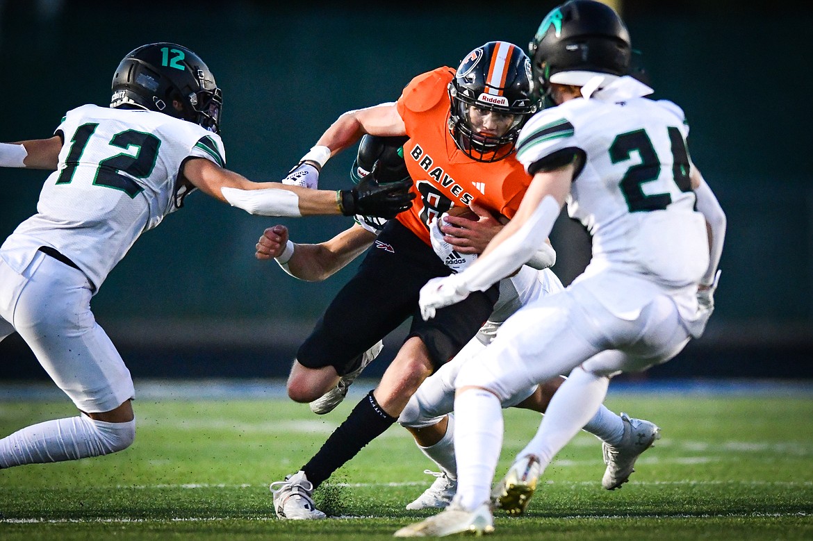
<svg viewBox="0 0 813 541"><path fill-rule="evenodd" d="M621 413L624 422L624 436L620 444L602 444L604 463L607 465L602 478L602 487L614 491L627 483L629 476L635 469L635 461L641 453L654 447L656 439L660 439L660 428L654 423L641 419L631 419L626 413Z"/></svg>

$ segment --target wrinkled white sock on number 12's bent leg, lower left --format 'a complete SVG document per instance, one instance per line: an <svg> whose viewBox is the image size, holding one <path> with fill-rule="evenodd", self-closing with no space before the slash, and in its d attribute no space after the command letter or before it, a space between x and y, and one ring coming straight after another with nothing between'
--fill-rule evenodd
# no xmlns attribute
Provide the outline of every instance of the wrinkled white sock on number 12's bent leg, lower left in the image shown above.
<svg viewBox="0 0 813 541"><path fill-rule="evenodd" d="M40 422L0 439L0 468L107 455L127 448L135 435L135 419L94 421L83 413Z"/></svg>

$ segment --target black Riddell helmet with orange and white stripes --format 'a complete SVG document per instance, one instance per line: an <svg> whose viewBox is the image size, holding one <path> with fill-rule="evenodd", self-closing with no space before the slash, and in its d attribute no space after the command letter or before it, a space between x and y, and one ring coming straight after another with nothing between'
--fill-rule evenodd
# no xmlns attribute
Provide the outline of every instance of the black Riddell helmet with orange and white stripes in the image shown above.
<svg viewBox="0 0 813 541"><path fill-rule="evenodd" d="M449 84L449 131L455 144L478 162L496 162L514 152L520 128L537 110L531 63L520 47L489 41L467 54ZM501 136L485 136L472 128L471 107L513 115Z"/></svg>

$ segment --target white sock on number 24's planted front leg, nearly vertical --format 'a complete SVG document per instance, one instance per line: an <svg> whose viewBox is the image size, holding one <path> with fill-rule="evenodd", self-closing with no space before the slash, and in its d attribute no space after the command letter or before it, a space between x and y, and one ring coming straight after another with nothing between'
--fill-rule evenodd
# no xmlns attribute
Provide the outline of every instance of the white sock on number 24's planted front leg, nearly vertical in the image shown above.
<svg viewBox="0 0 813 541"><path fill-rule="evenodd" d="M483 389L467 389L454 398L454 456L458 465L455 499L465 509L488 501L502 449L502 405Z"/></svg>

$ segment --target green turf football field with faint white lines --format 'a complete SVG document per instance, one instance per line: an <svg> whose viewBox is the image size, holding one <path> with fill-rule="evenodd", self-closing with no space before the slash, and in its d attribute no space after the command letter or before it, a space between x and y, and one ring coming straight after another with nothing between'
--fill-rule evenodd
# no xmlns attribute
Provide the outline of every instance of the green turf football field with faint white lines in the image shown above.
<svg viewBox="0 0 813 541"><path fill-rule="evenodd" d="M136 443L124 452L0 471L0 539L392 539L432 514L404 505L434 479L398 426L316 492L337 518L272 511L268 483L298 470L356 401L316 417L288 400L138 400ZM528 513L498 513L489 539L813 539L813 395L611 389L606 404L663 430L631 481L603 490L598 440L579 435ZM3 400L0 435L69 414L67 401ZM538 419L506 413L498 475Z"/></svg>

